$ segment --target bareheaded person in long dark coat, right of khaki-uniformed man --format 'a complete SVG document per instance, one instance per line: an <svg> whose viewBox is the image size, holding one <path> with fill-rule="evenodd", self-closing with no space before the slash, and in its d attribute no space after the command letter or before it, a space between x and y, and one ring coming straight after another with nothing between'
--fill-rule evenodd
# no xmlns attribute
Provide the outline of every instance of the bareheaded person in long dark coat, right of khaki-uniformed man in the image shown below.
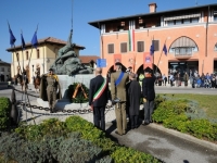
<svg viewBox="0 0 217 163"><path fill-rule="evenodd" d="M139 127L139 108L140 108L140 98L141 98L141 86L136 79L136 74L130 73L129 79L131 84L128 88L129 97L129 118L131 129Z"/></svg>

